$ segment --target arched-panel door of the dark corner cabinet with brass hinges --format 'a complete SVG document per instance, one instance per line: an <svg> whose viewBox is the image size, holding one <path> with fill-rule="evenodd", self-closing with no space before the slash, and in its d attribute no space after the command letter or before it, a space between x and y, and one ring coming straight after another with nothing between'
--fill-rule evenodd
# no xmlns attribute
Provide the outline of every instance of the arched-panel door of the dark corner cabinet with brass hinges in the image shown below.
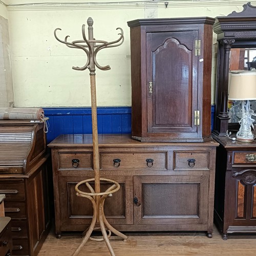
<svg viewBox="0 0 256 256"><path fill-rule="evenodd" d="M147 133L198 137L198 31L151 32L146 40Z"/></svg>

